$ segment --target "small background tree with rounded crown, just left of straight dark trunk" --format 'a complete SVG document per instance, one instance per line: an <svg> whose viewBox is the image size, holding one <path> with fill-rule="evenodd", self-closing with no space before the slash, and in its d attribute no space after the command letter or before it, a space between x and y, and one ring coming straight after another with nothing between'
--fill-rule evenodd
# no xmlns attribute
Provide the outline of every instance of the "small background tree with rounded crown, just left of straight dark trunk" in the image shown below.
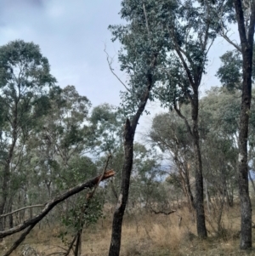
<svg viewBox="0 0 255 256"><path fill-rule="evenodd" d="M189 115L190 105L183 108L185 116ZM150 139L153 145L158 145L161 151L167 152L178 170L180 185L189 202L190 213L195 208L195 200L191 190L190 177L193 165L194 151L192 139L181 117L175 111L156 115L150 129ZM174 175L174 174L170 174Z"/></svg>

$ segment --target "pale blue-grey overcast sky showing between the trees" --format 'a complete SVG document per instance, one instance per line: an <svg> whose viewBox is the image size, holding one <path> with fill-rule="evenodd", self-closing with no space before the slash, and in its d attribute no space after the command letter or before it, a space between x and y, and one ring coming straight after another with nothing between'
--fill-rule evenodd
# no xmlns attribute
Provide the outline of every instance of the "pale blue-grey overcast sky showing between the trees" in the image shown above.
<svg viewBox="0 0 255 256"><path fill-rule="evenodd" d="M117 60L119 45L111 43L107 27L123 23L118 14L120 3L120 0L0 0L0 45L15 39L37 43L60 87L75 85L93 106L104 102L118 105L122 85L109 70L104 48L106 45L107 52ZM220 65L218 56L228 48L220 38L213 44L201 91L219 85L215 77ZM117 62L114 68L118 70ZM125 80L124 74L119 75ZM156 105L148 107L152 111Z"/></svg>

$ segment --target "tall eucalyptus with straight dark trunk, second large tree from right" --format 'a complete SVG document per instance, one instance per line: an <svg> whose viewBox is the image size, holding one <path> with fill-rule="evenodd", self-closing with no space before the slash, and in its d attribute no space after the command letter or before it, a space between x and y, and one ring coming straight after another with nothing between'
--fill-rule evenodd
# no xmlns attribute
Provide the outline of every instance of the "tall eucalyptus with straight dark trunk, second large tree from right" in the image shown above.
<svg viewBox="0 0 255 256"><path fill-rule="evenodd" d="M195 153L195 210L197 234L207 236L203 205L203 179L198 122L199 87L207 64L207 53L217 35L218 22L211 12L211 1L146 1L148 15L153 15L161 29L155 40L162 42L161 82L155 94L162 105L174 109L190 133ZM163 35L163 37L161 37ZM190 102L191 122L180 105Z"/></svg>

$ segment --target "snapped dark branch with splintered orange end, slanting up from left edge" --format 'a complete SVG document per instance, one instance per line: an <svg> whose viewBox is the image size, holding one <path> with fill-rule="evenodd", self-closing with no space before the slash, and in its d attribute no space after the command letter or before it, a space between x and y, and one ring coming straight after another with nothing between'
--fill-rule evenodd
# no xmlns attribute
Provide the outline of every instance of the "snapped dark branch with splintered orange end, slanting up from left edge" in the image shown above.
<svg viewBox="0 0 255 256"><path fill-rule="evenodd" d="M45 207L42 209L42 212L39 213L34 218L26 219L26 221L24 221L24 223L17 225L14 228L11 228L9 230L0 231L0 238L13 235L14 233L20 232L21 230L25 230L29 226L37 225L37 223L39 221L41 221L57 204L59 204L59 202L64 201L68 197L73 196L73 195L83 191L86 188L93 188L95 185L98 184L99 180L109 179L114 174L115 174L115 172L113 170L107 171L107 172L105 172L103 177L102 177L102 175L99 175L99 176L95 177L94 179L90 179L90 180L82 183L81 185L77 185L74 188L71 188L69 191L66 191L62 195L54 197L52 200L50 200L49 202L47 202L45 204Z"/></svg>

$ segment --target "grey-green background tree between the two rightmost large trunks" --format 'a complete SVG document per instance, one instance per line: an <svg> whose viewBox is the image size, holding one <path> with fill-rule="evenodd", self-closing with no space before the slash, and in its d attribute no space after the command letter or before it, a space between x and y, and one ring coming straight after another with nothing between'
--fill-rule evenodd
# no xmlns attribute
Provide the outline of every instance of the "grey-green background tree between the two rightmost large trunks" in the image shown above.
<svg viewBox="0 0 255 256"><path fill-rule="evenodd" d="M217 209L218 232L222 227L220 222L224 202L229 207L233 206L237 188L237 120L240 96L240 92L229 92L227 88L212 88L201 99L200 104L202 161L207 166L207 191L218 198L217 203L212 204ZM207 206L209 208L208 204Z"/></svg>

